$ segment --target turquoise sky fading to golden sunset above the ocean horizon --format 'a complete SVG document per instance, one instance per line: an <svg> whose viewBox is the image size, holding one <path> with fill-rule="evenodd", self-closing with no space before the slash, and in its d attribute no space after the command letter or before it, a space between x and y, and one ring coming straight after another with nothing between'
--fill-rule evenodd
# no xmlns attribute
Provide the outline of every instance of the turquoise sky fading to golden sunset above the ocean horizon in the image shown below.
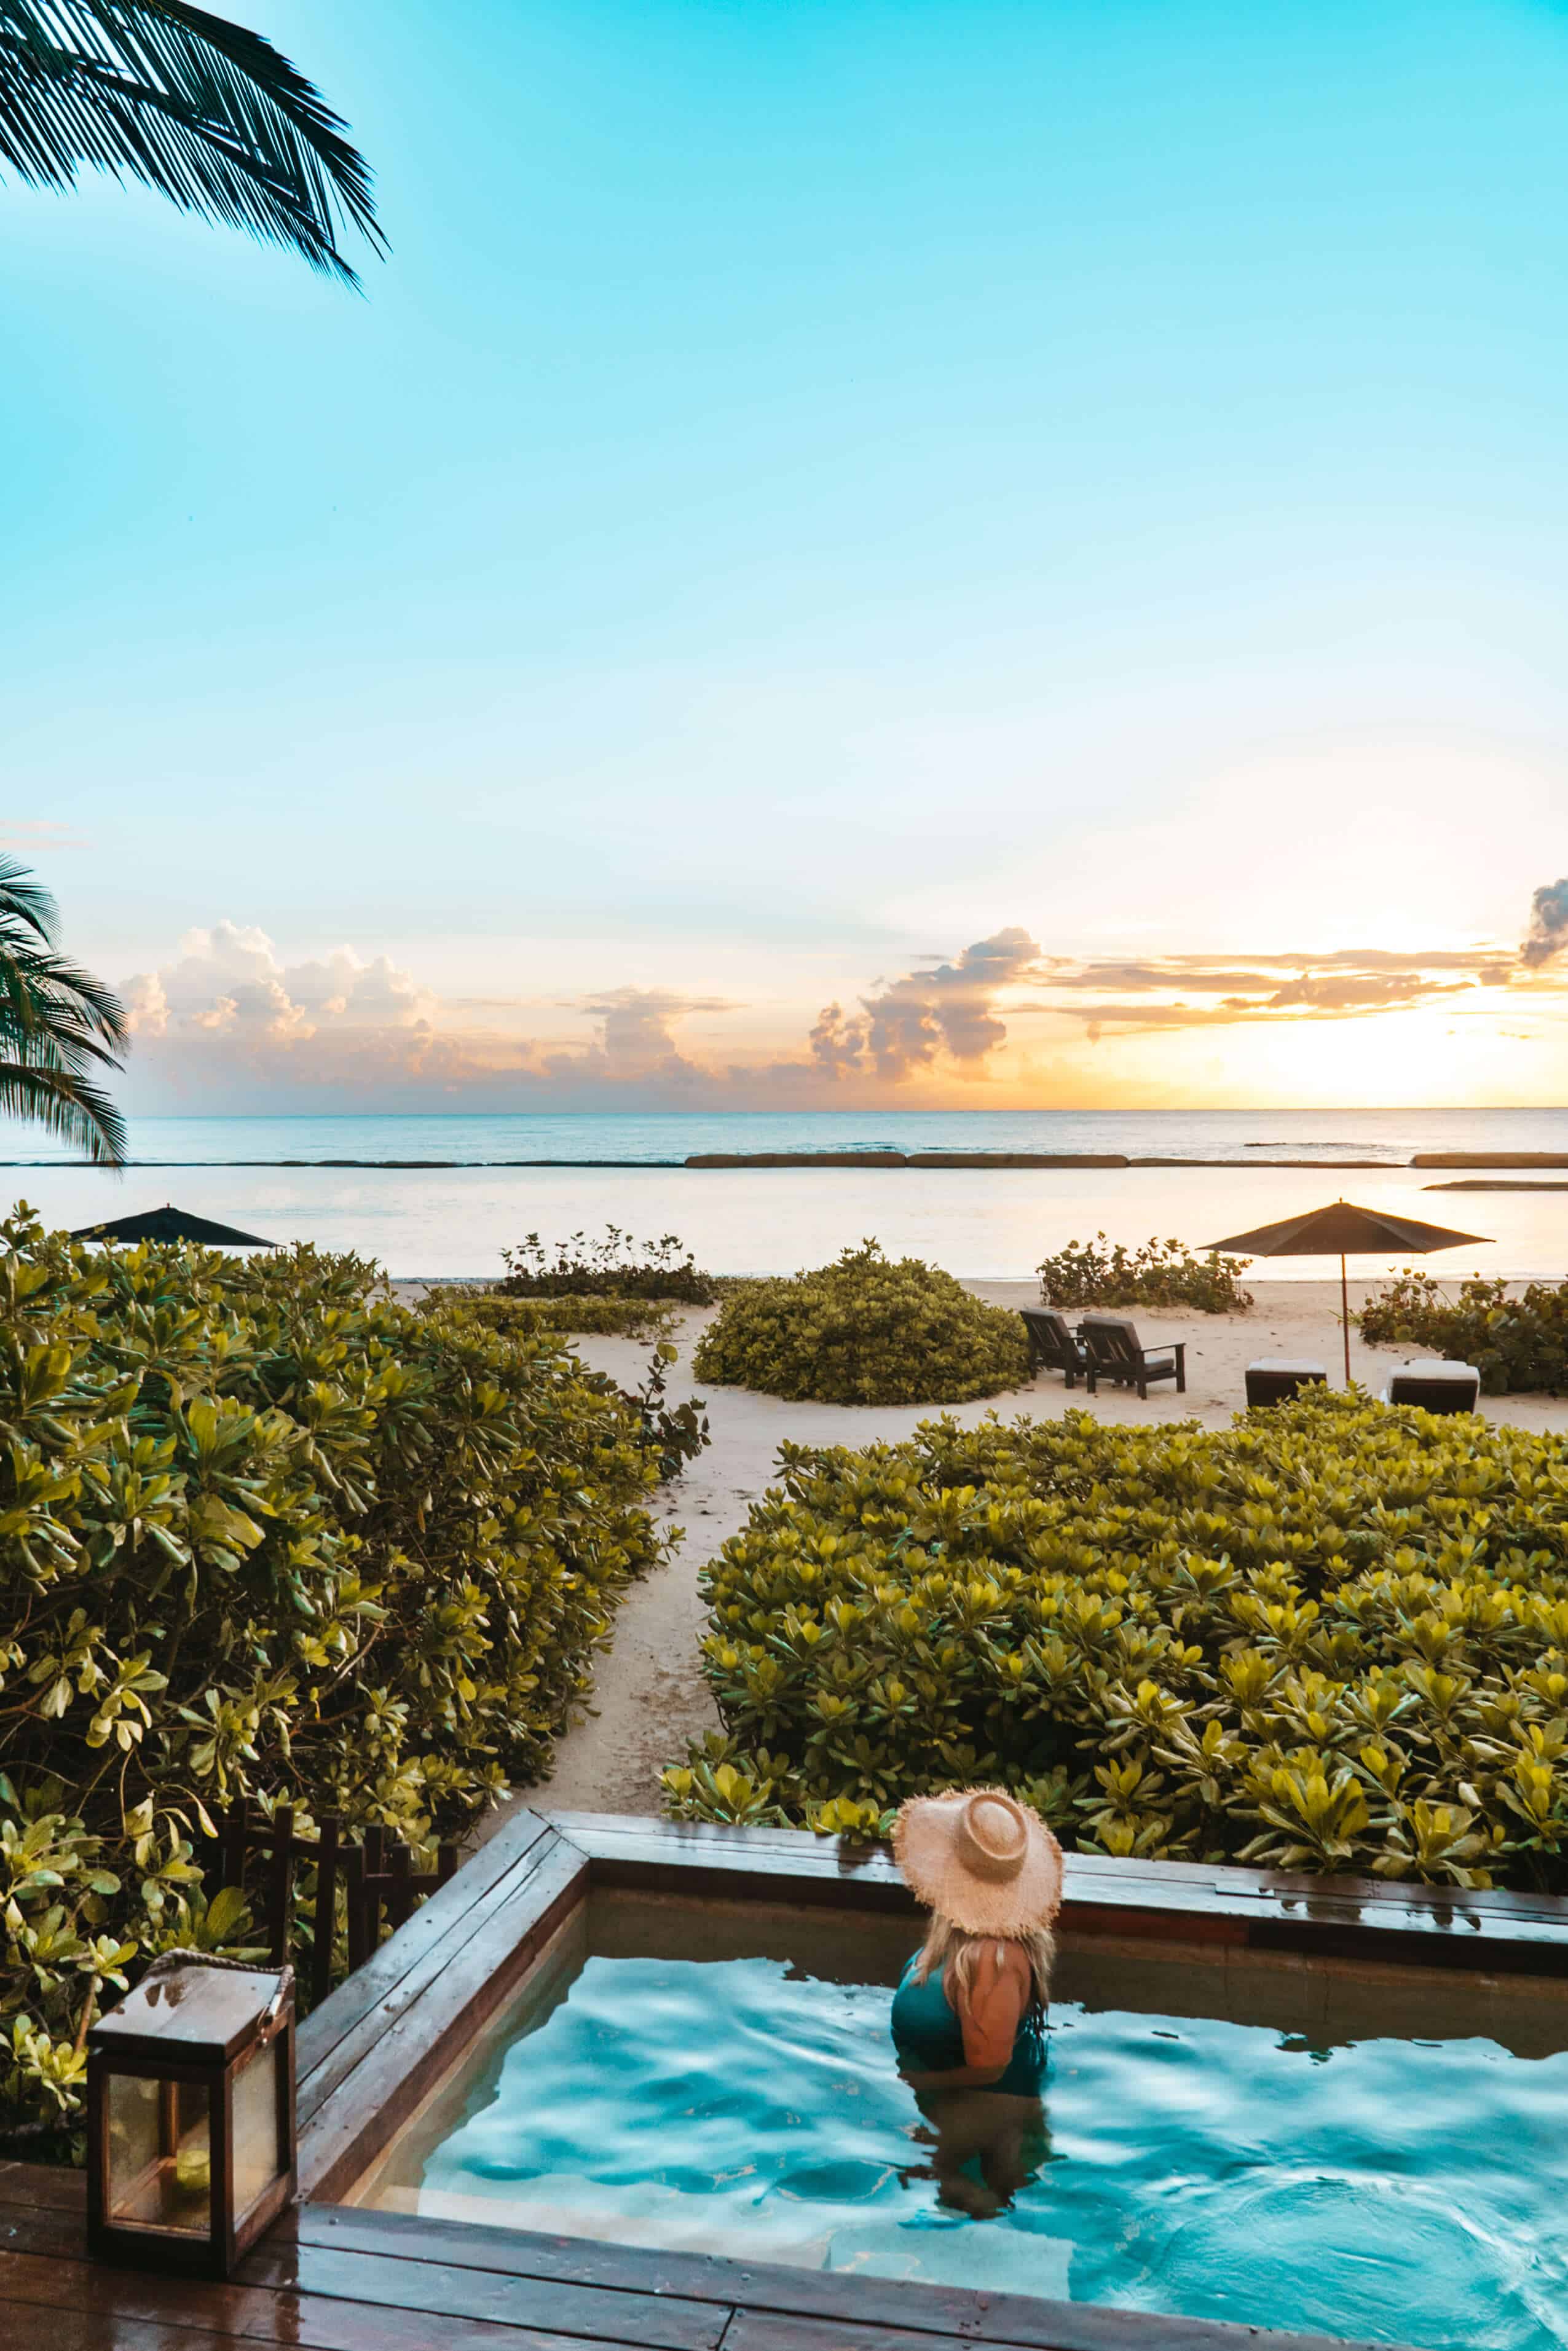
<svg viewBox="0 0 1568 2351"><path fill-rule="evenodd" d="M362 296L0 186L134 1112L1568 1100L1568 7L242 14Z"/></svg>

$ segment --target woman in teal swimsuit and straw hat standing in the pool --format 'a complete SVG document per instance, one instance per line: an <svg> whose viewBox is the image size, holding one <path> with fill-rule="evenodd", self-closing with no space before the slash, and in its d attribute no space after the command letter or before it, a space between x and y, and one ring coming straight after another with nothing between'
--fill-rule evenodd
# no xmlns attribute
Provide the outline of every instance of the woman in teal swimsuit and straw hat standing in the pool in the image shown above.
<svg viewBox="0 0 1568 2351"><path fill-rule="evenodd" d="M1063 1848L1001 1789L914 1796L893 1855L931 1911L893 1996L893 2048L931 2125L938 2198L999 2212L1046 2154L1051 1925Z"/></svg>

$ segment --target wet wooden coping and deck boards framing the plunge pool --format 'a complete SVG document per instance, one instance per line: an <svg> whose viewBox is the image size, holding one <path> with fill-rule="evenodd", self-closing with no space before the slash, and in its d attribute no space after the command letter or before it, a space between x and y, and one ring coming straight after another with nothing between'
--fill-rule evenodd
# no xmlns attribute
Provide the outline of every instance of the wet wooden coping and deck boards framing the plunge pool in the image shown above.
<svg viewBox="0 0 1568 2351"><path fill-rule="evenodd" d="M520 1810L299 2029L301 2205L233 2285L85 2259L80 2177L0 2165L0 2309L49 2351L1345 2351L924 2280L343 2205L595 1888L914 1916L882 1850L783 1829ZM1074 1937L1568 1977L1568 1902L1070 1855ZM1566 1994L1568 1996L1568 1994ZM49 2313L45 2318L45 2311ZM1371 2351L1371 2346L1366 2346ZM1389 2346L1382 2346L1389 2351Z"/></svg>

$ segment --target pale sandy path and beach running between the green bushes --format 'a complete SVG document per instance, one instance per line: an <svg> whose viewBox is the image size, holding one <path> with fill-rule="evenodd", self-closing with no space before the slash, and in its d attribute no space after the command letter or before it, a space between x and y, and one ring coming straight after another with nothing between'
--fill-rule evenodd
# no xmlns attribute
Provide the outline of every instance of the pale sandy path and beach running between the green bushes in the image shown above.
<svg viewBox="0 0 1568 2351"><path fill-rule="evenodd" d="M1037 1305L1032 1281L971 1281L976 1295L994 1305ZM947 1406L971 1425L987 1411L1004 1415L1056 1415L1067 1404L1100 1420L1199 1420L1204 1427L1227 1427L1244 1399L1244 1373L1253 1357L1309 1357L1340 1378L1340 1286L1338 1281L1253 1281L1255 1305L1248 1314L1140 1314L1147 1345L1187 1340L1187 1394L1159 1387L1147 1404L1131 1389L1103 1387L1086 1396L1074 1387L1067 1396L1060 1373L1041 1373L1030 1387L983 1404ZM1359 1307L1375 1284L1352 1281L1349 1302ZM715 1310L684 1314L675 1328L679 1364L672 1368L670 1396L682 1401L703 1394L712 1444L703 1458L670 1488L663 1514L684 1531L670 1566L649 1575L628 1596L616 1622L614 1648L599 1662L595 1712L559 1744L555 1777L531 1791L529 1801L564 1810L656 1813L658 1773L679 1761L686 1740L717 1728L717 1714L696 1669L696 1643L703 1629L698 1568L745 1521L750 1502L769 1486L778 1444L872 1444L905 1436L940 1406L846 1406L783 1404L741 1387L696 1387L691 1347ZM646 1361L646 1347L632 1340L581 1338L583 1359L599 1371L635 1385ZM1373 1394L1382 1389L1406 1349L1363 1347L1352 1331L1352 1373ZM1493 1396L1481 1399L1490 1420L1509 1420L1528 1429L1568 1432L1568 1396Z"/></svg>

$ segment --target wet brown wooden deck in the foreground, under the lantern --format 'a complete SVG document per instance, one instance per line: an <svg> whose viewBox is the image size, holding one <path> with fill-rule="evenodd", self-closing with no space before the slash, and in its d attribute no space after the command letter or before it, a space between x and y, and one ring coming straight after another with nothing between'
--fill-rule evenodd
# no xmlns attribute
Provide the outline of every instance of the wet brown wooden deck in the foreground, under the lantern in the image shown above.
<svg viewBox="0 0 1568 2351"><path fill-rule="evenodd" d="M341 2205L303 2205L233 2285L202 2285L94 2266L82 2212L80 2172L0 2165L5 2351L1356 2351Z"/></svg>

